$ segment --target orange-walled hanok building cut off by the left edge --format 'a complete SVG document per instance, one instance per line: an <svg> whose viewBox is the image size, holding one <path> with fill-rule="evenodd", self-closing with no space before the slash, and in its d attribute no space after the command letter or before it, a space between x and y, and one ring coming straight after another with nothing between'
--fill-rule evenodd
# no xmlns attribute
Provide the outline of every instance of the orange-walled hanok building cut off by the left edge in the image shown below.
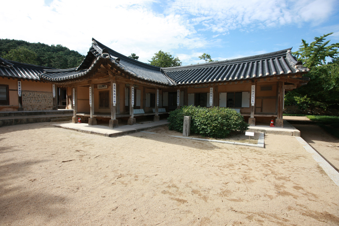
<svg viewBox="0 0 339 226"><path fill-rule="evenodd" d="M66 97L66 90L41 81L38 75L44 73L44 69L52 68L0 58L0 112L56 110L58 98L62 108L61 97Z"/></svg>

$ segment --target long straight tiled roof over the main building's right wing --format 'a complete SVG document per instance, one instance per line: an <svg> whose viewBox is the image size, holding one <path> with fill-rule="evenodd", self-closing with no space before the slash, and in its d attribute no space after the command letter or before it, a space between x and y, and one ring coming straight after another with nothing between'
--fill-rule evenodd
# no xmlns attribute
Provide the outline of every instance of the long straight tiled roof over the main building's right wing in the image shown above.
<svg viewBox="0 0 339 226"><path fill-rule="evenodd" d="M234 81L306 72L291 55L291 48L277 52L199 65L162 68L176 84Z"/></svg>

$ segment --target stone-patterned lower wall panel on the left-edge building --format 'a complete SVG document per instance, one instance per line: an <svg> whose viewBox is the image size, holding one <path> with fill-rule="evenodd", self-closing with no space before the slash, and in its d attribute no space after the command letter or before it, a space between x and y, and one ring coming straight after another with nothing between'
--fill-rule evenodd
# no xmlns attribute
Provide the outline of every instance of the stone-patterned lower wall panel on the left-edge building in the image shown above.
<svg viewBox="0 0 339 226"><path fill-rule="evenodd" d="M53 110L52 92L22 91L22 107L24 111Z"/></svg>

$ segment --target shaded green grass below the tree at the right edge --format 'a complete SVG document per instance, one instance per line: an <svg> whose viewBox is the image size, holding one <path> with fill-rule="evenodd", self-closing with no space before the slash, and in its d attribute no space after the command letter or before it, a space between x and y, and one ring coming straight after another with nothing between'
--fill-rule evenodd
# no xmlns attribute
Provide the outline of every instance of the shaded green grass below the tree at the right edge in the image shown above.
<svg viewBox="0 0 339 226"><path fill-rule="evenodd" d="M339 117L326 115L307 115L307 117L317 122L317 125L323 128L329 134L339 138Z"/></svg>

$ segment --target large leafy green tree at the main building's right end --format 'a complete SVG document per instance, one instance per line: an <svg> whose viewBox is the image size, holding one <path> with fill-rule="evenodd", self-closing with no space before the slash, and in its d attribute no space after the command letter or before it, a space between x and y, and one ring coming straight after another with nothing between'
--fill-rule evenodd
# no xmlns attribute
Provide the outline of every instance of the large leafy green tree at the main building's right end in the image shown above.
<svg viewBox="0 0 339 226"><path fill-rule="evenodd" d="M296 104L301 110L312 110L315 107L327 109L339 106L339 43L328 45L325 37L332 33L315 37L315 41L308 44L302 39L300 48L293 52L297 60L303 62L310 70L307 77L310 81L285 96L285 104ZM326 57L332 62L326 64Z"/></svg>

